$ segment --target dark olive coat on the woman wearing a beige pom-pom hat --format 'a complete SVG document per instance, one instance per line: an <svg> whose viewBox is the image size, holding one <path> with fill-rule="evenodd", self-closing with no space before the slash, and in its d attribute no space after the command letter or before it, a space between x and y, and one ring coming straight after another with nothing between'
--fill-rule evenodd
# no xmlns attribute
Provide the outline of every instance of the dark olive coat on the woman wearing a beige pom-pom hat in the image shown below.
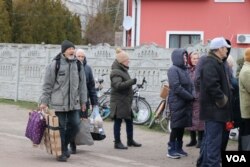
<svg viewBox="0 0 250 167"><path fill-rule="evenodd" d="M111 97L110 97L110 117L120 119L132 119L132 85L135 80L128 74L128 68L118 63L117 60L112 64L110 73Z"/></svg>

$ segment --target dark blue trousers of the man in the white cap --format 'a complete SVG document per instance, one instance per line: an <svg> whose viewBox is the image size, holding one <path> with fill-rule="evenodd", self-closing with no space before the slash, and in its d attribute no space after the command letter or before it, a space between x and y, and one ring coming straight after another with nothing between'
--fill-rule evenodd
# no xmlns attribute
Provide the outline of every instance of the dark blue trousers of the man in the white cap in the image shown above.
<svg viewBox="0 0 250 167"><path fill-rule="evenodd" d="M205 132L197 161L199 167L220 167L222 135L225 123L206 121Z"/></svg>

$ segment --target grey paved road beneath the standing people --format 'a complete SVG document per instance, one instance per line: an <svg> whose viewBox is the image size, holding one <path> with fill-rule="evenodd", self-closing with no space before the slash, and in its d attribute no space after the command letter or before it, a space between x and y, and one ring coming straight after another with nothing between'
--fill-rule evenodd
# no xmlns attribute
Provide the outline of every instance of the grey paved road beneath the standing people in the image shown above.
<svg viewBox="0 0 250 167"><path fill-rule="evenodd" d="M33 148L24 137L28 110L13 105L0 104L0 167L194 167L199 150L184 149L188 157L173 160L166 157L167 134L152 132L135 126L135 139L142 143L141 148L116 150L113 148L112 122L104 122L107 138L95 142L93 146L79 146L78 153L72 155L67 163L57 162L46 153L45 148ZM122 141L126 143L125 127L122 127ZM184 137L184 144L188 142ZM236 144L230 143L235 149Z"/></svg>

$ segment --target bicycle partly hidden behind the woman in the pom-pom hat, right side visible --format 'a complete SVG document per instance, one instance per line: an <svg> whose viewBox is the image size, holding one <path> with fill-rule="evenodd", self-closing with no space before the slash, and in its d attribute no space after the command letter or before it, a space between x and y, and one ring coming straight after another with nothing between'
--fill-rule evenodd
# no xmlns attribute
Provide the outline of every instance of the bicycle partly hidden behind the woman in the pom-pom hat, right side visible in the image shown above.
<svg viewBox="0 0 250 167"><path fill-rule="evenodd" d="M133 123L136 125L142 125L148 122L151 118L152 110L149 103L144 97L140 96L140 89L144 88L144 84L147 83L145 77L141 84L137 84L133 89L133 102L132 102L132 113Z"/></svg>

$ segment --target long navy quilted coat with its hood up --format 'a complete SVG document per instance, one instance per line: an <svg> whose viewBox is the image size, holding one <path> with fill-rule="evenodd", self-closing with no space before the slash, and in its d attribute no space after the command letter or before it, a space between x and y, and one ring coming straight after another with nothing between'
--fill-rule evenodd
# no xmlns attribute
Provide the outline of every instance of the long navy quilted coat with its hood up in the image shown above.
<svg viewBox="0 0 250 167"><path fill-rule="evenodd" d="M194 100L194 85L184 65L184 49L176 49L172 53L172 62L168 70L169 109L171 112L171 128L192 126L192 102Z"/></svg>

